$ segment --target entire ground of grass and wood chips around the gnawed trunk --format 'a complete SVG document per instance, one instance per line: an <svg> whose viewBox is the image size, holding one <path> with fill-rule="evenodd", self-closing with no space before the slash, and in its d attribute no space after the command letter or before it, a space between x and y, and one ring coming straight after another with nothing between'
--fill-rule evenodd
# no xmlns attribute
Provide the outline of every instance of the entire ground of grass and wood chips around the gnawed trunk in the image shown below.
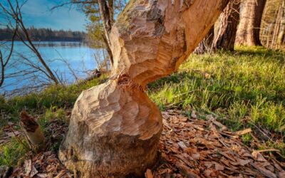
<svg viewBox="0 0 285 178"><path fill-rule="evenodd" d="M14 167L26 177L71 176L56 155L71 109L82 90L105 78L0 98L0 174ZM192 55L147 93L164 117L160 162L147 177L285 176L285 53L242 47ZM46 152L28 148L19 127L23 109L43 128Z"/></svg>

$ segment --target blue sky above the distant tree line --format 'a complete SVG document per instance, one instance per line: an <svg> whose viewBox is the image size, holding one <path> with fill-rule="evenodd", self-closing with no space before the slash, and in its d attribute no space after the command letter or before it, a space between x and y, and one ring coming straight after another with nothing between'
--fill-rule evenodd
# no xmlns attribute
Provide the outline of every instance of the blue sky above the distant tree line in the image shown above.
<svg viewBox="0 0 285 178"><path fill-rule="evenodd" d="M76 10L74 7L73 9L60 7L50 11L51 7L63 2L61 0L26 1L21 10L25 25L27 27L35 26L36 28L85 31L87 19L83 12Z"/></svg>

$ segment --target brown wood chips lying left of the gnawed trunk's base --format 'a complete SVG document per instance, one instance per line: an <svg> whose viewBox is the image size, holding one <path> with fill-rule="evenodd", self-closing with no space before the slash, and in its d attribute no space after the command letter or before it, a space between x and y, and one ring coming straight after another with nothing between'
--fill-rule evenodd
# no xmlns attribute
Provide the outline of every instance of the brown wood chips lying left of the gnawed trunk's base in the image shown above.
<svg viewBox="0 0 285 178"><path fill-rule="evenodd" d="M72 177L72 174L59 161L57 149L53 149L55 145L60 144L66 130L67 124L62 120L49 122L48 127L45 129L45 135L48 136L46 137L46 150L48 151L26 159L23 166L14 169L11 177Z"/></svg>

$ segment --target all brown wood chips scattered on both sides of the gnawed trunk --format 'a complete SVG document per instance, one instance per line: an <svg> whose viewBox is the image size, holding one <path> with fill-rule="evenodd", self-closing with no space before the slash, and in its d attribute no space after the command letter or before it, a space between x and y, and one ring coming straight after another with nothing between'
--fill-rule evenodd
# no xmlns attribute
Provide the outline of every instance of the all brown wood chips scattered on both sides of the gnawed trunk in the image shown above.
<svg viewBox="0 0 285 178"><path fill-rule="evenodd" d="M160 162L145 177L285 177L285 163L274 155L263 152L278 150L252 150L239 139L250 129L229 132L212 115L198 120L179 110L162 112L164 129L160 140ZM52 140L62 138L66 125L51 123L48 132ZM50 145L50 146L51 146ZM72 177L59 162L56 151L40 153L26 159L24 166L14 169L21 177Z"/></svg>

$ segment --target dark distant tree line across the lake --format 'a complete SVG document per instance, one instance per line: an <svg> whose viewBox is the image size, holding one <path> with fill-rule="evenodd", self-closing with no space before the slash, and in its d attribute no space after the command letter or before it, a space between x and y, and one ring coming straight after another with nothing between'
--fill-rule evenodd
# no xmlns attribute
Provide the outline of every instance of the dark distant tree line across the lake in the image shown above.
<svg viewBox="0 0 285 178"><path fill-rule="evenodd" d="M84 41L86 33L83 31L52 30L51 28L27 28L28 35L32 41ZM14 30L11 28L0 28L0 41L11 41ZM19 29L19 35L24 37L24 31ZM15 41L20 41L16 36Z"/></svg>

